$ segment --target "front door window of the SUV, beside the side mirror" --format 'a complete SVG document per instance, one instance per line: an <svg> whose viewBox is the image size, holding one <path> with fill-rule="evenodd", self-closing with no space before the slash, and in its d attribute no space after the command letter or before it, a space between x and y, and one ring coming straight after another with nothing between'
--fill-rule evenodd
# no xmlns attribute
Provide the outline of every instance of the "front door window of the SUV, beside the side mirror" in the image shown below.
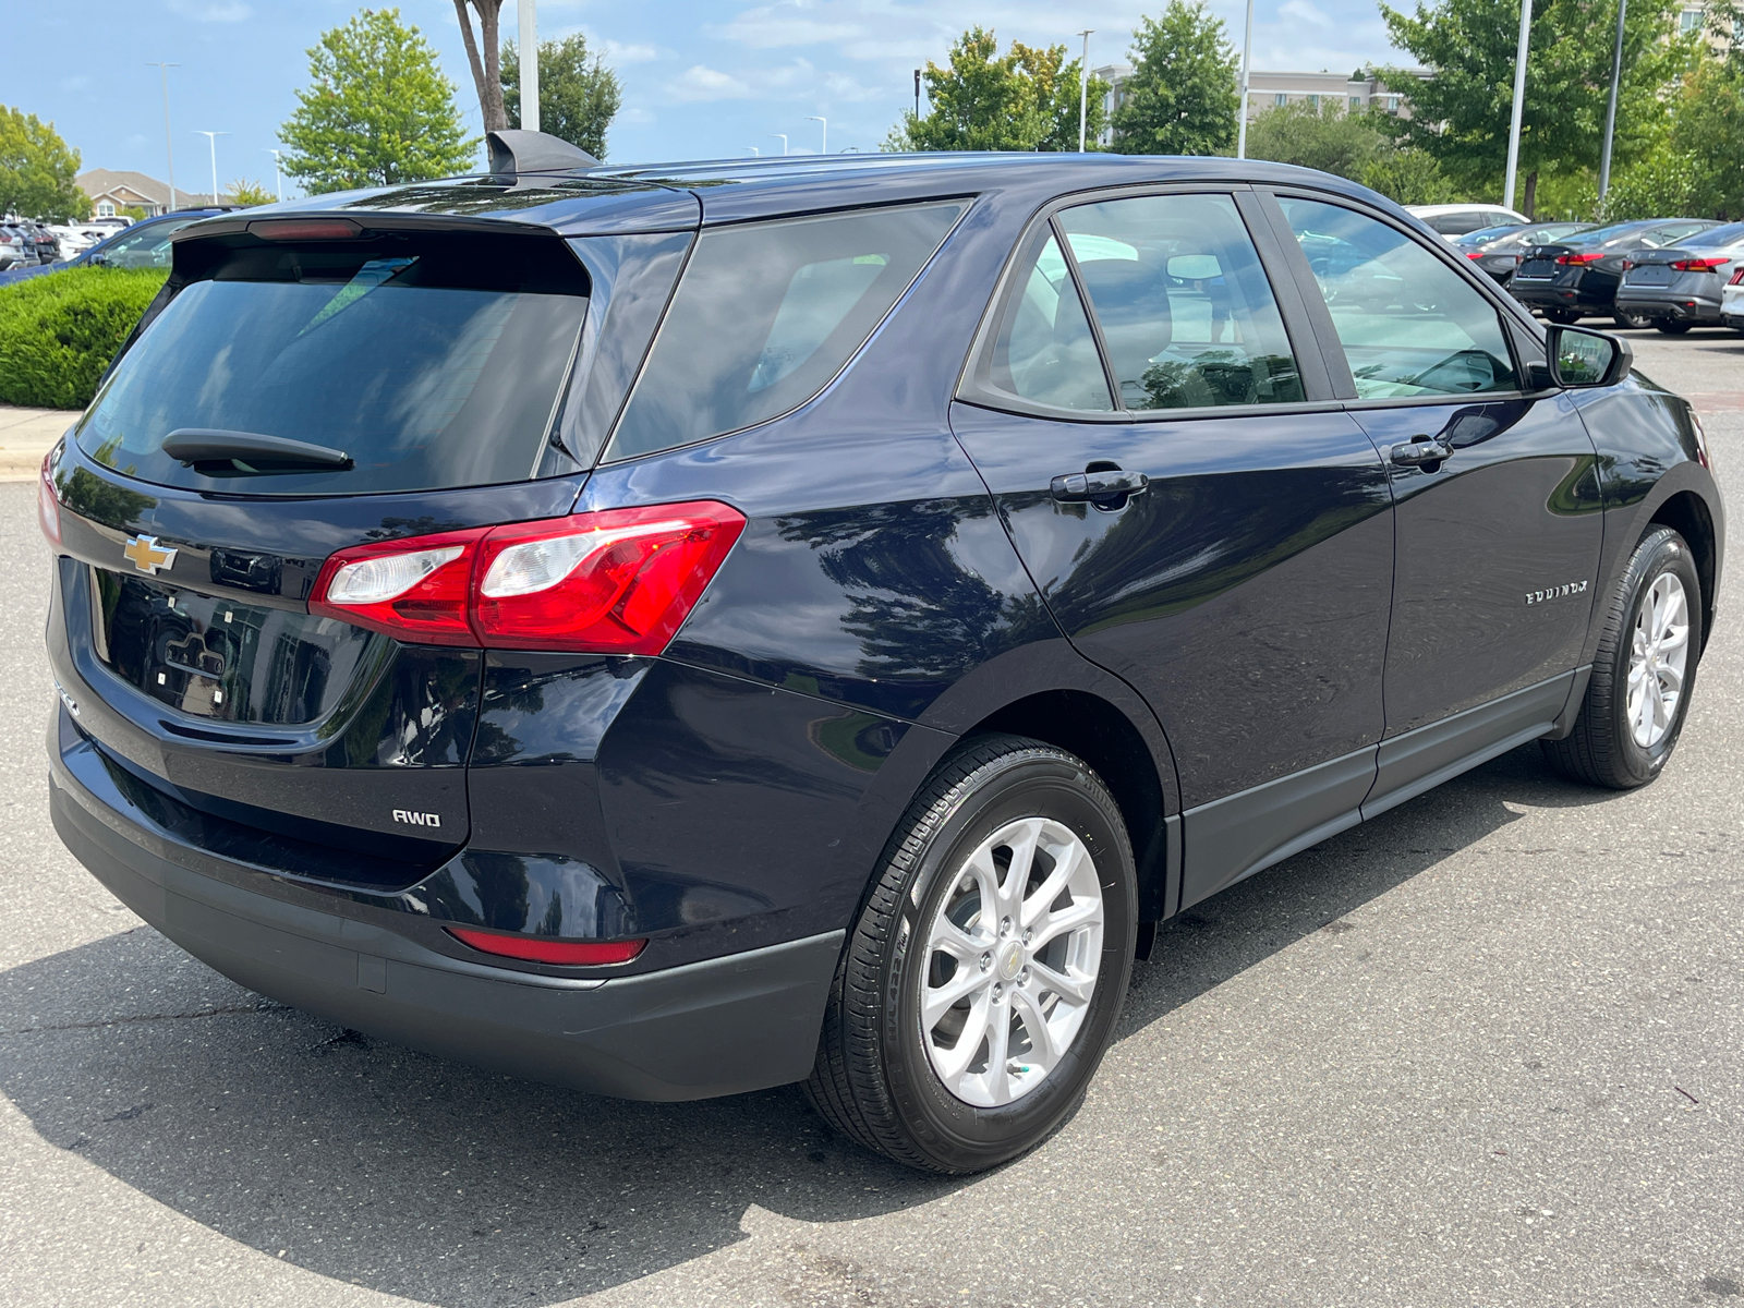
<svg viewBox="0 0 1744 1308"><path fill-rule="evenodd" d="M1278 197L1332 314L1359 399L1516 391L1496 309L1404 232Z"/></svg>

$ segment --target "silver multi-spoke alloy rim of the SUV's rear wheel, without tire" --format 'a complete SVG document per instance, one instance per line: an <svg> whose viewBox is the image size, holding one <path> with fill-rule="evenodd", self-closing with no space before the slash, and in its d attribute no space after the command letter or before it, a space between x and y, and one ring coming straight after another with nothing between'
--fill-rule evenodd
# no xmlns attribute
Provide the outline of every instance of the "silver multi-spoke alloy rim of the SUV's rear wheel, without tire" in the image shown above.
<svg viewBox="0 0 1744 1308"><path fill-rule="evenodd" d="M1001 1107L1046 1080L1095 996L1102 923L1095 860L1064 823L1018 818L964 860L921 984L921 1039L952 1095Z"/></svg>

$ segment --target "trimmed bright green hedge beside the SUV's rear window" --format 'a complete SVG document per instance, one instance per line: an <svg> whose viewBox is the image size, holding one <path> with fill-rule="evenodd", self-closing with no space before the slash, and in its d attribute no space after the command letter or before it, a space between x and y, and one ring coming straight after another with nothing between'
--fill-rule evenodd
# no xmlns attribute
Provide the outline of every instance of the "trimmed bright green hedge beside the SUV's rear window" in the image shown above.
<svg viewBox="0 0 1744 1308"><path fill-rule="evenodd" d="M0 286L0 403L84 408L169 276L66 269Z"/></svg>

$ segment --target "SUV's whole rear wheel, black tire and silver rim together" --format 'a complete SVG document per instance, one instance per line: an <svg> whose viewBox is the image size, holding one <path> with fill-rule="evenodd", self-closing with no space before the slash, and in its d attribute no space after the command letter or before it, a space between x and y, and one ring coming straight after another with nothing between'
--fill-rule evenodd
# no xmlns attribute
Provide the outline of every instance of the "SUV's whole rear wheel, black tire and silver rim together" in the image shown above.
<svg viewBox="0 0 1744 1308"><path fill-rule="evenodd" d="M1137 877L1078 757L982 736L896 828L837 964L813 1107L898 1163L1015 1158L1080 1104L1132 975Z"/></svg>

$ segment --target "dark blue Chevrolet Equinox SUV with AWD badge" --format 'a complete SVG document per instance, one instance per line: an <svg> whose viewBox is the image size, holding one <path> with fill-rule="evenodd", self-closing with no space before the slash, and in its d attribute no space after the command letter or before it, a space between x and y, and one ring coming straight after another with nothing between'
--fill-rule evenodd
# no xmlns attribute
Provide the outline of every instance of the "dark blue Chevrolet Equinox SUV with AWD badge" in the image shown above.
<svg viewBox="0 0 1744 1308"><path fill-rule="evenodd" d="M1629 363L1228 159L201 221L44 467L54 823L347 1027L989 1167L1158 923L1526 741L1659 773L1723 511Z"/></svg>

